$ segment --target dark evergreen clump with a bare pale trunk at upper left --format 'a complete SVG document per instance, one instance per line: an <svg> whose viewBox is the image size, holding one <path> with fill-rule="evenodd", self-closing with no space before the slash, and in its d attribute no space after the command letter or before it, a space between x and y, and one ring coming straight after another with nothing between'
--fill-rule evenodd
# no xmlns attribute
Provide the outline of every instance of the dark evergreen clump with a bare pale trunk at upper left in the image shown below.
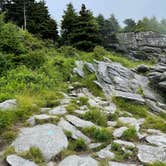
<svg viewBox="0 0 166 166"><path fill-rule="evenodd" d="M7 21L12 21L43 39L57 40L57 24L50 17L44 1L10 0L5 7Z"/></svg>

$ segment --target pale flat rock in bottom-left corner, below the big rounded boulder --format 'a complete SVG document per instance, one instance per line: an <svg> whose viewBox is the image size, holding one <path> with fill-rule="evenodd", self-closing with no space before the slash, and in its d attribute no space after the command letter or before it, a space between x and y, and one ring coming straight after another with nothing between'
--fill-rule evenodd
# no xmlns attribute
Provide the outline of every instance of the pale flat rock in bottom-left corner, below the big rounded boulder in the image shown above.
<svg viewBox="0 0 166 166"><path fill-rule="evenodd" d="M25 160L17 155L7 156L6 161L11 166L37 166L34 162Z"/></svg>

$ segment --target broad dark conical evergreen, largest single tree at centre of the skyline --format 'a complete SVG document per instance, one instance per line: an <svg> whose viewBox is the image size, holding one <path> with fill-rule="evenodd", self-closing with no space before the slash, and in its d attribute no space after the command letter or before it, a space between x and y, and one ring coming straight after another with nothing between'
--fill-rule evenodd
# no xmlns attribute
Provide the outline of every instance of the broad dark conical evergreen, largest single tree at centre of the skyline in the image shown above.
<svg viewBox="0 0 166 166"><path fill-rule="evenodd" d="M85 51L92 51L101 43L97 21L84 4L72 30L71 42L74 47Z"/></svg>

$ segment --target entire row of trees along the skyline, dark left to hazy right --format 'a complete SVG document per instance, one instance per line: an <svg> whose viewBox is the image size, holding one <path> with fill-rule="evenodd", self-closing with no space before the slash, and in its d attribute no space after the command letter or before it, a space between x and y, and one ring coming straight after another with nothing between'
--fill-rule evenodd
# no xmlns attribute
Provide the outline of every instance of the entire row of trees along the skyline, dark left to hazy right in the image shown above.
<svg viewBox="0 0 166 166"><path fill-rule="evenodd" d="M0 0L0 12L4 13L7 22L13 22L42 39L86 51L91 51L96 45L109 49L109 44L116 41L119 32L155 31L166 34L166 19L158 21L155 17L145 17L136 22L128 18L122 28L113 14L108 19L101 14L95 17L84 4L78 13L71 3L67 5L60 33L44 0Z"/></svg>

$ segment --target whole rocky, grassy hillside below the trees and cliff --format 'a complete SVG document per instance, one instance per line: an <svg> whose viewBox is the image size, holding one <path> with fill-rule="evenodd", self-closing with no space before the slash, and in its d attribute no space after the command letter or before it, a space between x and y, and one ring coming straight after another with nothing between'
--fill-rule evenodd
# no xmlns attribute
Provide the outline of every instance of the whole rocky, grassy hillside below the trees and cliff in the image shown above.
<svg viewBox="0 0 166 166"><path fill-rule="evenodd" d="M164 50L56 48L3 21L0 39L0 166L166 165Z"/></svg>

